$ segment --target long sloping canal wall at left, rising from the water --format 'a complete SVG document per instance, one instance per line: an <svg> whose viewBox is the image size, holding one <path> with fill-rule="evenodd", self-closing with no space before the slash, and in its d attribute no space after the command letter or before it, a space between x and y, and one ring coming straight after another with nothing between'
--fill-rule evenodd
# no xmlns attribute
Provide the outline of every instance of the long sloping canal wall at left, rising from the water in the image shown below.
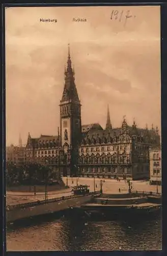
<svg viewBox="0 0 167 256"><path fill-rule="evenodd" d="M66 200L52 201L44 204L39 204L32 207L18 207L11 210L7 210L7 222L13 222L19 219L51 214L53 212L68 209L69 207L77 207L80 206L81 204L91 202L93 197L93 195L79 196L69 198Z"/></svg>

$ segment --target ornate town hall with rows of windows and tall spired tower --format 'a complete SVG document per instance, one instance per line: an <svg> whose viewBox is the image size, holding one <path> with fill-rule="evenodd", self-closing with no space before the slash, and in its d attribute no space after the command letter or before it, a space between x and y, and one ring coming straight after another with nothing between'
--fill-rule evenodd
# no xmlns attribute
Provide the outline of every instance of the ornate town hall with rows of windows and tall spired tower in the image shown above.
<svg viewBox="0 0 167 256"><path fill-rule="evenodd" d="M158 127L137 127L135 120L113 128L107 108L106 127L99 123L81 125L81 104L71 67L70 51L65 85L60 101L60 134L41 135L26 145L26 160L49 164L63 175L149 179L149 147L160 143Z"/></svg>

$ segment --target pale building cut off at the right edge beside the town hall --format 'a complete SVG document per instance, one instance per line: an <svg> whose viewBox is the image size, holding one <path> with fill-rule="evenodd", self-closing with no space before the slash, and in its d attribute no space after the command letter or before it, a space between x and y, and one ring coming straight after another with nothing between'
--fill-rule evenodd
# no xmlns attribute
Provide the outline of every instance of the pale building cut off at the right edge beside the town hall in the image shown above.
<svg viewBox="0 0 167 256"><path fill-rule="evenodd" d="M161 170L161 148L150 147L150 184L161 185L162 170Z"/></svg>

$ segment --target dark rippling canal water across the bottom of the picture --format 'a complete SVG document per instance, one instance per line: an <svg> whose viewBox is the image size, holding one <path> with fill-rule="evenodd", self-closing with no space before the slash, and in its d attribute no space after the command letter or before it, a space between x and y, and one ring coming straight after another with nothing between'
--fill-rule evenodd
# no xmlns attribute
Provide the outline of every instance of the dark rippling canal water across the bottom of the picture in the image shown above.
<svg viewBox="0 0 167 256"><path fill-rule="evenodd" d="M7 251L161 250L161 216L42 217L7 228Z"/></svg>

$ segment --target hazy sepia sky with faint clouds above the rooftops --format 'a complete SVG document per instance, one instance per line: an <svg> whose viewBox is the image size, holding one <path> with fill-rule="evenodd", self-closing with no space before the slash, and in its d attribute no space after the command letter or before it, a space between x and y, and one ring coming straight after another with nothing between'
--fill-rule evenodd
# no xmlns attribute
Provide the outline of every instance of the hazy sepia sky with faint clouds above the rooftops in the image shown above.
<svg viewBox="0 0 167 256"><path fill-rule="evenodd" d="M121 21L110 19L113 10L123 11ZM29 132L57 135L68 43L82 124L105 127L109 104L113 127L126 115L129 125L135 118L160 129L160 7L7 8L7 145L19 133L23 143Z"/></svg>

